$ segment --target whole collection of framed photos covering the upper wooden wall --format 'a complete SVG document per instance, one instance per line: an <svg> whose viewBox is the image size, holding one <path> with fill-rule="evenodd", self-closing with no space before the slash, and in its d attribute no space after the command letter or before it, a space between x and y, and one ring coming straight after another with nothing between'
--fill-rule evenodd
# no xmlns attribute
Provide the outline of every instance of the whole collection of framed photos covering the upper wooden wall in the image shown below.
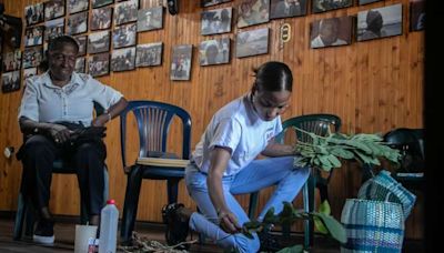
<svg viewBox="0 0 444 253"><path fill-rule="evenodd" d="M114 2L115 1L115 2ZM357 0L369 9L356 16L314 20L309 48L346 45L402 34L402 3L371 8L383 0ZM410 30L424 29L424 1L410 0ZM274 19L296 18L353 6L353 0L201 0L199 47L201 67L230 63L233 26L246 27ZM224 4L224 7L218 7ZM24 50L2 53L2 91L20 89L37 74L48 41L60 34L73 36L80 45L75 71L93 77L162 64L162 41L138 44L138 32L163 29L165 8L148 7L149 0L49 0L24 8ZM381 4L380 4L381 6ZM234 22L233 17L236 17ZM354 26L355 23L355 26ZM113 26L112 26L113 24ZM236 58L269 52L269 28L239 30L234 36ZM215 36L215 38L214 38ZM221 38L218 38L221 36ZM355 40L354 40L355 38ZM171 80L190 80L192 44L172 45Z"/></svg>

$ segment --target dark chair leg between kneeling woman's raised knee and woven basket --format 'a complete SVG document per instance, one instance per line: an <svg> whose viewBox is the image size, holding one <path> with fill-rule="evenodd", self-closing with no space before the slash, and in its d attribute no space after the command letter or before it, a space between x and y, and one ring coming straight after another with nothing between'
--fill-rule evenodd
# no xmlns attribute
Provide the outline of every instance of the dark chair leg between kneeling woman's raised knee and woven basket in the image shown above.
<svg viewBox="0 0 444 253"><path fill-rule="evenodd" d="M304 199L304 211L314 212L314 188L316 185L316 179L313 173L310 174L303 189ZM309 250L313 246L314 239L314 222L312 219L307 219L304 222L304 249Z"/></svg>

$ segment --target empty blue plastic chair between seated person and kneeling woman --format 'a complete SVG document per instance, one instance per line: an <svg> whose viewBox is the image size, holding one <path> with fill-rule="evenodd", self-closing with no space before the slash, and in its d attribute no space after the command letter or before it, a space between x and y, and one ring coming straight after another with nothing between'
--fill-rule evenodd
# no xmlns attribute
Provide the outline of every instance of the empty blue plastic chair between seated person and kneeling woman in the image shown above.
<svg viewBox="0 0 444 253"><path fill-rule="evenodd" d="M139 204L140 188L142 179L167 180L168 203L178 201L178 184L184 178L184 168L165 168L142 164L129 165L127 161L127 120L128 114L135 117L139 133L139 156L140 158L190 158L191 148L191 117L175 105L155 101L130 101L127 109L120 115L121 151L124 172L128 175L127 192L123 205L121 226L121 241L130 243L134 230L135 216ZM182 121L182 155L168 153L167 140L170 124L174 118Z"/></svg>

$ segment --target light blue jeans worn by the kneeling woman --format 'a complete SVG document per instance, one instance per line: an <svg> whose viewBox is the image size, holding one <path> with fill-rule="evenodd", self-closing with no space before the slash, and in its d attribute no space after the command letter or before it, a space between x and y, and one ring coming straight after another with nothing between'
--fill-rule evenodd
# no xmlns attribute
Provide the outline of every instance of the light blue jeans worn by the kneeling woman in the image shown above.
<svg viewBox="0 0 444 253"><path fill-rule="evenodd" d="M293 156L254 160L235 175L223 176L222 188L225 202L239 221L239 224L250 221L248 214L235 200L234 195L256 192L261 189L276 185L270 200L260 213L262 221L266 211L274 208L279 213L284 201L292 202L309 179L309 168L295 168ZM249 239L242 233L229 234L219 226L216 211L210 200L206 186L206 174L200 172L194 163L185 170L186 189L198 204L201 213L194 212L190 219L190 227L213 240L219 246L236 252L258 252L260 242L256 234Z"/></svg>

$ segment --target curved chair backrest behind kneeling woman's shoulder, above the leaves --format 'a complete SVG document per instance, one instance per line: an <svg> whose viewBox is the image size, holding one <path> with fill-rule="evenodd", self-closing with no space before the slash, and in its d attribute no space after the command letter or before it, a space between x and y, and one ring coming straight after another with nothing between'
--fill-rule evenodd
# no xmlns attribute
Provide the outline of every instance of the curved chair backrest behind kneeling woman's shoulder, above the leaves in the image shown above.
<svg viewBox="0 0 444 253"><path fill-rule="evenodd" d="M299 115L285 120L282 123L283 131L278 136L278 141L282 142L285 132L289 128L295 126L307 132L313 132L317 135L326 135L330 132L339 132L341 130L341 118L334 114L317 113L317 114L306 114ZM311 142L312 138L303 132L296 131L296 138L299 141Z"/></svg>

